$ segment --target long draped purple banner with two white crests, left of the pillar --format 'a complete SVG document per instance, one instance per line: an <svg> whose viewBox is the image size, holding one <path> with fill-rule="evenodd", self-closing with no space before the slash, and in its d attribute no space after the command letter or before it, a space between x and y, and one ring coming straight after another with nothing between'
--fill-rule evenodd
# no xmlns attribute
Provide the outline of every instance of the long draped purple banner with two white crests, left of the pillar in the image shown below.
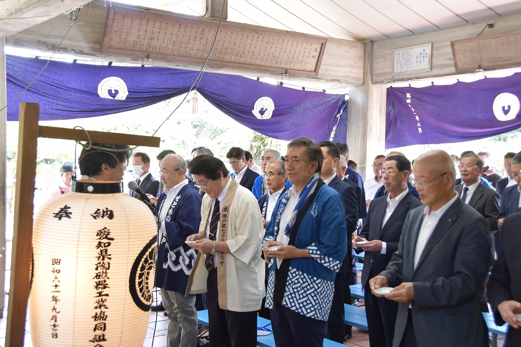
<svg viewBox="0 0 521 347"><path fill-rule="evenodd" d="M46 62L7 56L8 102ZM88 118L138 109L187 93L196 76L197 71L160 67L51 61L31 87L7 108L7 120L18 120L21 101L38 102L41 120ZM337 122L333 141L345 142L347 136L344 95L301 91L209 72L203 73L197 92L234 120L270 137L328 140ZM339 120L337 115L342 110Z"/></svg>

